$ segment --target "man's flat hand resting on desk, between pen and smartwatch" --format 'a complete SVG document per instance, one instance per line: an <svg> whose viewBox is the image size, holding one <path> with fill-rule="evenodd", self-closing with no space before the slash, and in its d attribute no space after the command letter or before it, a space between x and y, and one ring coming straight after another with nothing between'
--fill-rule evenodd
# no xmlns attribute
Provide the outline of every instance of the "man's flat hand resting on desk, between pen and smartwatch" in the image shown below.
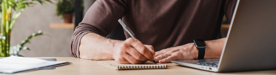
<svg viewBox="0 0 276 75"><path fill-rule="evenodd" d="M154 55L154 60L159 63L169 63L175 60L197 59L198 50L193 43L172 47L158 51Z"/></svg>

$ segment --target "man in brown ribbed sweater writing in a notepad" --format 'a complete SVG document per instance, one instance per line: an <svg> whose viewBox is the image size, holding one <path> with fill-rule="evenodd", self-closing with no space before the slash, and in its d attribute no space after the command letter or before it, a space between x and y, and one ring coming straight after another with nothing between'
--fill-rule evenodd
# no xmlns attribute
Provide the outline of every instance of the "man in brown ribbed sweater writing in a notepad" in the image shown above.
<svg viewBox="0 0 276 75"><path fill-rule="evenodd" d="M220 58L225 38L216 40L225 14L231 22L236 0L97 0L75 29L70 42L74 57L169 63L198 59L193 39L204 39L204 59ZM126 40L105 38L119 24L131 29Z"/></svg>

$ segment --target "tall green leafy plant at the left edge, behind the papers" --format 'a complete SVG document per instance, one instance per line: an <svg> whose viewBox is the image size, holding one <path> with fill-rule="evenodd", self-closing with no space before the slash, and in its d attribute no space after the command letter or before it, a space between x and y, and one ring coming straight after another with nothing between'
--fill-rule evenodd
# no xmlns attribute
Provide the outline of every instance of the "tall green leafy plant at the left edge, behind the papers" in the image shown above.
<svg viewBox="0 0 276 75"><path fill-rule="evenodd" d="M0 0L0 57L10 56L10 32L13 25L24 9L36 4L35 2L39 2L40 4L46 4L46 2L52 3L50 0ZM42 33L40 32L39 34Z"/></svg>

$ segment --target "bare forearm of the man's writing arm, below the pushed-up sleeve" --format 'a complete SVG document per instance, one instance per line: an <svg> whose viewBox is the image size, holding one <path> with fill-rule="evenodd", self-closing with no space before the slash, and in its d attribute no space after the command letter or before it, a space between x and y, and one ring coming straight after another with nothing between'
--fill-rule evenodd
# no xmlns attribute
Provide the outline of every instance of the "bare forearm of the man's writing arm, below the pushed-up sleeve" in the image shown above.
<svg viewBox="0 0 276 75"><path fill-rule="evenodd" d="M110 52L123 41L111 40L95 33L87 33L81 38L80 58L89 60L113 60Z"/></svg>

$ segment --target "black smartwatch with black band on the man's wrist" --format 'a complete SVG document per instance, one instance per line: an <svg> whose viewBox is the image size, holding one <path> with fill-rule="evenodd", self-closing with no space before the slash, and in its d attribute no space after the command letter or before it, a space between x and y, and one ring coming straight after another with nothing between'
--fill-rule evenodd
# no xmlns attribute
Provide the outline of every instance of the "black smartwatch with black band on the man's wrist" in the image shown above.
<svg viewBox="0 0 276 75"><path fill-rule="evenodd" d="M205 48L206 44L204 43L203 39L194 39L194 43L196 48L198 49L198 58L203 59L205 56Z"/></svg>

